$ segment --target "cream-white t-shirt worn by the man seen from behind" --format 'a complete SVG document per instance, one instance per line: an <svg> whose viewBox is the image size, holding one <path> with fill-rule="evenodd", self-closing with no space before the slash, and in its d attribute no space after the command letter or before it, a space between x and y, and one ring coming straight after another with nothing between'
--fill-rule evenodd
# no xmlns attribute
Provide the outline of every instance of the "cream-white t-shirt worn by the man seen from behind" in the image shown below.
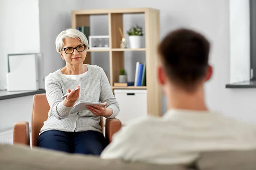
<svg viewBox="0 0 256 170"><path fill-rule="evenodd" d="M201 151L256 148L256 126L210 111L169 110L131 122L113 135L102 159L191 163Z"/></svg>

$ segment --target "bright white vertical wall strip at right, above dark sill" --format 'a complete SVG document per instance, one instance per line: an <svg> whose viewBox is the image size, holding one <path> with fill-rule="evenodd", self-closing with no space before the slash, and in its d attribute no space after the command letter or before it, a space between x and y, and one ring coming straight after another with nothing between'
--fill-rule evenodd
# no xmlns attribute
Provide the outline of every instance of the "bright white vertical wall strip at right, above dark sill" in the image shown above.
<svg viewBox="0 0 256 170"><path fill-rule="evenodd" d="M230 0L230 82L250 80L249 0Z"/></svg>

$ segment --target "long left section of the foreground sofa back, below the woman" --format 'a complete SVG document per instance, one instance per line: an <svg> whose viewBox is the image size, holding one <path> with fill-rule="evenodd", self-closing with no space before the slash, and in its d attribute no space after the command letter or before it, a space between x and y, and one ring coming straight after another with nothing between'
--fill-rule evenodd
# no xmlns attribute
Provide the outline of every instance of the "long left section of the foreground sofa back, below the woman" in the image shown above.
<svg viewBox="0 0 256 170"><path fill-rule="evenodd" d="M0 144L1 170L186 170L181 165L157 165Z"/></svg>

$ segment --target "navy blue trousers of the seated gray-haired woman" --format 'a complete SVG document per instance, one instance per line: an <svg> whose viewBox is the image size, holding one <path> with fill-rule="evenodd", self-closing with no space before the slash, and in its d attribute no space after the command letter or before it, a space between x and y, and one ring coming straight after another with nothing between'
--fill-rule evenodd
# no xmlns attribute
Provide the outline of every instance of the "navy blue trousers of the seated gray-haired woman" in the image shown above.
<svg viewBox="0 0 256 170"><path fill-rule="evenodd" d="M106 146L104 135L93 130L84 132L47 130L41 133L37 140L37 147L88 155L100 155Z"/></svg>

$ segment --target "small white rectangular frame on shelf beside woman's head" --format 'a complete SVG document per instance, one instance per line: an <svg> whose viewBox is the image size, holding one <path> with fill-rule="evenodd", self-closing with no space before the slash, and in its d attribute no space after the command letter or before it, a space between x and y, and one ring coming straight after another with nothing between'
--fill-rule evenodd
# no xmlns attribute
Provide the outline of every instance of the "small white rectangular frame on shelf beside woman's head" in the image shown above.
<svg viewBox="0 0 256 170"><path fill-rule="evenodd" d="M108 35L90 35L89 49L109 49Z"/></svg>

